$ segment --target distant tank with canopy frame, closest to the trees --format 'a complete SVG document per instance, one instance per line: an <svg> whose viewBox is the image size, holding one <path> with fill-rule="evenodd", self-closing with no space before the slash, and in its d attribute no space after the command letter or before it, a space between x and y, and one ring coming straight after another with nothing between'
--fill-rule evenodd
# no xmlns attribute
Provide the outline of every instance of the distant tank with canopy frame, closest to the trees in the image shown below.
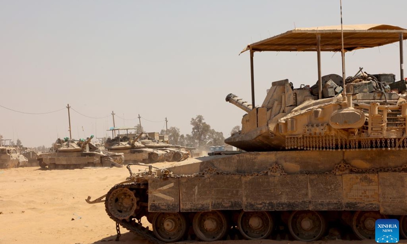
<svg viewBox="0 0 407 244"><path fill-rule="evenodd" d="M188 150L193 147L171 145L158 138L149 137L149 133L120 135L121 130L135 130L136 128L110 128L109 131L119 131L119 135L113 139L108 138L105 147L109 151L123 153L125 164L129 163L156 163L156 162L179 162L190 157ZM150 133L158 135L158 133Z"/></svg>

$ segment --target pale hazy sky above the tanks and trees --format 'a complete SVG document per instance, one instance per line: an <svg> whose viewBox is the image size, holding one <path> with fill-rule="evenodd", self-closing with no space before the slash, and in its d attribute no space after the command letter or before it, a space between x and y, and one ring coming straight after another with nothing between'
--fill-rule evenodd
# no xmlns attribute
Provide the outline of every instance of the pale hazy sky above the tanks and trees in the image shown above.
<svg viewBox="0 0 407 244"><path fill-rule="evenodd" d="M343 24L407 28L405 0L342 5ZM0 105L28 113L62 109L30 115L0 107L0 134L24 146L49 146L69 136L63 109L69 103L93 117L71 110L73 138L105 136L112 110L116 126L135 126L140 114L146 131L159 132L167 117L168 127L182 134L201 114L228 137L244 112L226 95L251 102L249 53L240 51L294 26L339 24L339 0L0 0ZM323 53L322 62L323 75L341 74L340 53ZM398 43L347 53L346 75L359 67L399 79ZM316 53L255 53L254 71L260 105L273 81L315 84Z"/></svg>

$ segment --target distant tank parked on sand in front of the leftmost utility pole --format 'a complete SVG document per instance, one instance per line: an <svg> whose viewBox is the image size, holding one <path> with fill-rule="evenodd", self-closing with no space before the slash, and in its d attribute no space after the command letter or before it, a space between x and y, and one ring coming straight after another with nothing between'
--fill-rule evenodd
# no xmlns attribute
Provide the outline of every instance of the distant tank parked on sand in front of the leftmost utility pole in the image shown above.
<svg viewBox="0 0 407 244"><path fill-rule="evenodd" d="M86 140L58 138L52 152L38 154L41 168L76 169L83 167L123 167L124 156L120 153L99 150L91 142L93 135Z"/></svg>

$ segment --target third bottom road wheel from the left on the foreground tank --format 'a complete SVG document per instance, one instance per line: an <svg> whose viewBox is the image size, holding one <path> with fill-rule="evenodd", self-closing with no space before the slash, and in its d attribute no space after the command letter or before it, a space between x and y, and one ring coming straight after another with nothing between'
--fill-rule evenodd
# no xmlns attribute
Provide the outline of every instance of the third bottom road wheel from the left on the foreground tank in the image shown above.
<svg viewBox="0 0 407 244"><path fill-rule="evenodd" d="M274 224L266 211L242 211L238 220L240 233L247 239L264 239L271 234Z"/></svg>

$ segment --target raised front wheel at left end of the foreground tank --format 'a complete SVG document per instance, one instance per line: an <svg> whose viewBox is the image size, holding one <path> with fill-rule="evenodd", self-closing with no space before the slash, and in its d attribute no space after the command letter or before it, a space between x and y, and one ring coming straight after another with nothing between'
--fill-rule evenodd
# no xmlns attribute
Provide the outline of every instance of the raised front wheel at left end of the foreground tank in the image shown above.
<svg viewBox="0 0 407 244"><path fill-rule="evenodd" d="M137 199L129 189L118 188L109 195L107 208L115 218L129 221L137 208Z"/></svg>

